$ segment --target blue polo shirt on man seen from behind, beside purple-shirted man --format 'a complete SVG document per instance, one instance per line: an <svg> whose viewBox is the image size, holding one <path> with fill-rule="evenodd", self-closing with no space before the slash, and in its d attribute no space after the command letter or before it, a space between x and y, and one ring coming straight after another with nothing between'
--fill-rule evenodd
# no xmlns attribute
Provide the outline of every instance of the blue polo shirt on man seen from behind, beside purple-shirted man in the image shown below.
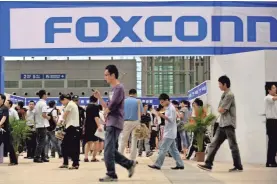
<svg viewBox="0 0 277 184"><path fill-rule="evenodd" d="M137 121L138 118L138 101L135 97L128 97L124 101L124 120ZM143 112L142 103L140 102L140 112Z"/></svg>

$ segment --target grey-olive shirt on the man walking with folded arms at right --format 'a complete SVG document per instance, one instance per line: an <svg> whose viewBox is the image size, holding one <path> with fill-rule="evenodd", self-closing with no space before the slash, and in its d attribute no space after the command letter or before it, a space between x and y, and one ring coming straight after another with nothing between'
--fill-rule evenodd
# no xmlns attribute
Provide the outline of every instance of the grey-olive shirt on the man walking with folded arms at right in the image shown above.
<svg viewBox="0 0 277 184"><path fill-rule="evenodd" d="M230 90L222 94L219 107L225 110L225 112L220 116L219 127L232 126L236 128L235 96Z"/></svg>

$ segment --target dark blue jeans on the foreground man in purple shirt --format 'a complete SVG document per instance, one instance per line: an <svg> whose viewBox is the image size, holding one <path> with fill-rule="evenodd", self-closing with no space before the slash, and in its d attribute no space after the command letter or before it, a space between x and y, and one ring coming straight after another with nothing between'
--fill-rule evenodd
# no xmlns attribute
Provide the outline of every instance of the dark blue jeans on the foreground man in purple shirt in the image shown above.
<svg viewBox="0 0 277 184"><path fill-rule="evenodd" d="M112 126L106 127L104 159L107 168L107 175L117 177L115 172L115 163L126 169L133 166L133 161L128 160L125 156L119 153L116 149L116 144L121 130Z"/></svg>

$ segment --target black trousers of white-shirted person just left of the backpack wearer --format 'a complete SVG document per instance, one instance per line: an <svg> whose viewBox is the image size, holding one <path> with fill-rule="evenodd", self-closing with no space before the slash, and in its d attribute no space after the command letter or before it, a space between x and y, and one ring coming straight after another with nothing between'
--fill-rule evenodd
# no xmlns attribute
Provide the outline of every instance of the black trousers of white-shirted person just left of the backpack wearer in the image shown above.
<svg viewBox="0 0 277 184"><path fill-rule="evenodd" d="M37 141L37 146L36 146L36 151L35 151L35 159L39 159L40 157L42 159L45 159L45 145L46 145L46 133L47 130L46 128L37 128L36 129L36 141Z"/></svg>

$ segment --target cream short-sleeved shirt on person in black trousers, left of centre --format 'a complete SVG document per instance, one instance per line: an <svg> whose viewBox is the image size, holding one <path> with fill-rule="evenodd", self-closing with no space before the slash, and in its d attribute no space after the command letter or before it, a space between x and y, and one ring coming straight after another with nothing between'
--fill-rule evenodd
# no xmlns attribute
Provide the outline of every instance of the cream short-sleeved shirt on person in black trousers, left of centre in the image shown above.
<svg viewBox="0 0 277 184"><path fill-rule="evenodd" d="M70 101L66 105L64 112L69 112L65 119L66 128L70 126L74 126L74 127L80 126L79 109L78 109L78 106L73 101Z"/></svg>

